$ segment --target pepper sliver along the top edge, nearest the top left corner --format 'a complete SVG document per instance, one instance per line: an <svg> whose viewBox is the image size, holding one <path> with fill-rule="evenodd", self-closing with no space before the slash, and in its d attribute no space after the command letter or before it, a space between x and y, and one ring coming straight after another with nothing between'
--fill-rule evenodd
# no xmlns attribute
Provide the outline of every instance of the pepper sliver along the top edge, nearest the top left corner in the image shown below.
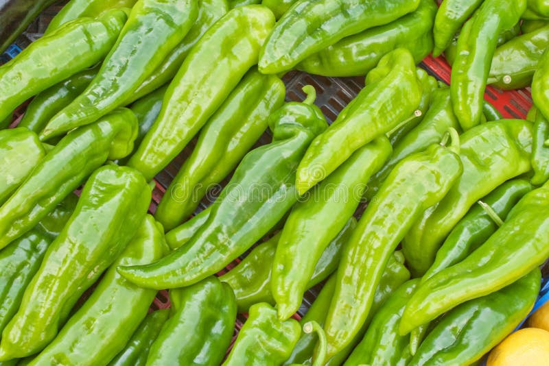
<svg viewBox="0 0 549 366"><path fill-rule="evenodd" d="M132 8L137 0L71 0L51 19L44 35L47 36L74 19L89 16L95 18L110 9Z"/></svg>

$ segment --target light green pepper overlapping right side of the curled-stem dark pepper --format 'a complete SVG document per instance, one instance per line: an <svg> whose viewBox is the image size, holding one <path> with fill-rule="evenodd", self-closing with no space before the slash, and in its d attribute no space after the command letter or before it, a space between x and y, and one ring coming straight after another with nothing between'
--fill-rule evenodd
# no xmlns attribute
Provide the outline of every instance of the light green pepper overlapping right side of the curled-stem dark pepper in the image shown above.
<svg viewBox="0 0 549 366"><path fill-rule="evenodd" d="M410 117L420 100L421 85L410 51L386 54L370 71L357 97L307 149L297 171L299 194L324 180L354 151Z"/></svg>

